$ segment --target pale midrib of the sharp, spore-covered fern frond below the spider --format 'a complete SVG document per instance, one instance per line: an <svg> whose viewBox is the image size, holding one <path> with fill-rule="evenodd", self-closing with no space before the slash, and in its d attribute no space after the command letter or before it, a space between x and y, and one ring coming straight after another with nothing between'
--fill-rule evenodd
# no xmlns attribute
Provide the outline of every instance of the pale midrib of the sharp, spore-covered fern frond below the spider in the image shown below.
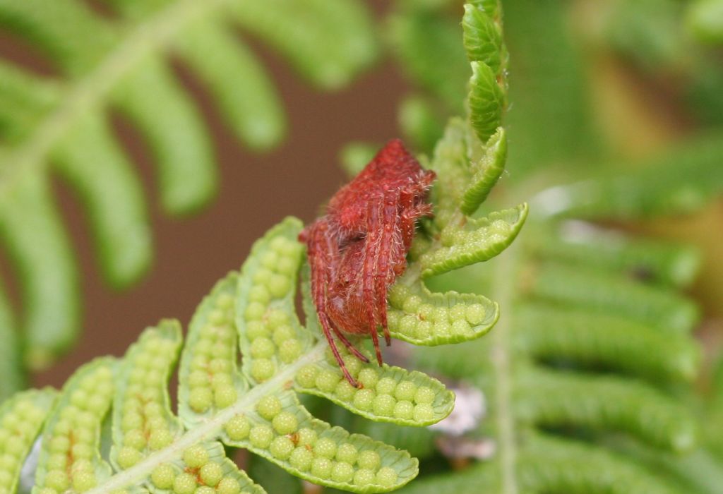
<svg viewBox="0 0 723 494"><path fill-rule="evenodd" d="M239 399L233 406L211 417L208 419L208 422L201 423L189 429L183 436L180 436L176 441L171 443L170 446L147 456L146 459L134 467L113 475L108 478L106 482L103 482L92 490L88 490L86 494L111 493L114 492L114 490L123 489L129 485L141 485L158 465L178 459L186 449L194 446L194 444L204 441L215 441L218 438L221 428L228 423L228 420L231 420L235 415L252 410L262 397L270 396L275 394L276 391L283 389L304 365L322 359L327 346L325 341L319 342L306 355L288 365L273 378L270 378L263 384L254 386L249 390L248 394Z"/></svg>

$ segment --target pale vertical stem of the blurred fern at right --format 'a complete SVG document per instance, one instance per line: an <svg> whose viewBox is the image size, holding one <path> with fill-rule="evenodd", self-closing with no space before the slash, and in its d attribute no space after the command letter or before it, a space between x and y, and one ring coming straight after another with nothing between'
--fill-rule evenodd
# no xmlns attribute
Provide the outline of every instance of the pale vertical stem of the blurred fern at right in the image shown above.
<svg viewBox="0 0 723 494"><path fill-rule="evenodd" d="M515 271L517 259L517 244L513 244L508 250L497 258L493 278L495 292L493 299L501 307L512 307ZM517 448L515 443L512 379L510 373L510 332L512 321L510 316L500 316L497 326L492 330L492 347L490 349L490 360L495 373L495 403L497 410L497 441L500 451L500 469L502 479L502 494L517 494L519 492L516 475L515 462L517 461Z"/></svg>

